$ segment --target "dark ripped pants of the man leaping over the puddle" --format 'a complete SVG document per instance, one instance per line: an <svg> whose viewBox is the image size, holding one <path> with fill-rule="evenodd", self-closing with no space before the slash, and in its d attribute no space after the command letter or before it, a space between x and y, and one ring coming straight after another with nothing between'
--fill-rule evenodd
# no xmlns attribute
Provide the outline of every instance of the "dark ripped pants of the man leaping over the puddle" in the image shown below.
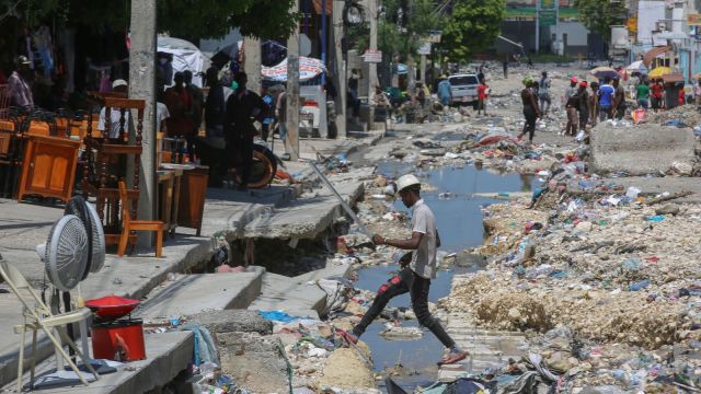
<svg viewBox="0 0 701 394"><path fill-rule="evenodd" d="M370 323L382 313L382 310L391 299L409 292L418 323L434 333L445 347L452 348L456 343L443 328L440 322L434 318L428 311L429 289L430 279L422 278L409 267L402 268L397 276L380 287L377 297L375 297L375 301L372 301L372 305L370 305L370 309L365 313L360 323L353 328L353 334L358 337L363 335Z"/></svg>

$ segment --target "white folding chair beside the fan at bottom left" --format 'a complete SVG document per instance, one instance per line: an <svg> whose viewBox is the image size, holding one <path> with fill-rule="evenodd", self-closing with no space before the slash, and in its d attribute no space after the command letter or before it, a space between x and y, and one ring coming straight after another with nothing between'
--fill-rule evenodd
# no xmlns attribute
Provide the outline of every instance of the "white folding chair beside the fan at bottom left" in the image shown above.
<svg viewBox="0 0 701 394"><path fill-rule="evenodd" d="M68 366L76 372L78 379L84 384L88 385L88 381L82 376L80 370L76 366L76 363L70 359L66 350L61 345L60 339L62 339L73 351L78 355L83 364L88 370L95 376L95 379L100 379L97 372L92 368L85 355L78 349L76 344L68 337L66 334L65 326L68 324L80 323L81 336L83 338L83 350L87 345L87 320L90 317L90 310L85 308L78 309L76 311L71 311L68 313L51 314L50 309L42 301L39 296L32 289L32 286L26 281L22 273L11 265L8 262L4 262L0 258L0 277L4 279L4 281L10 287L10 290L14 293L14 296L20 300L24 310L22 312L23 324L14 327L15 334L22 335L22 340L20 344L20 359L18 360L18 391L22 391L22 372L24 370L24 339L27 331L32 331L32 368L30 370L30 386L34 386L34 371L36 367L36 336L39 329L42 329L49 340L54 344L54 348L56 351L56 369L57 371L64 368L62 360L68 362ZM32 296L32 299L27 300L21 291L27 292ZM33 301L33 302L32 302ZM34 305L32 305L34 303ZM53 329L58 333L58 337L53 333Z"/></svg>

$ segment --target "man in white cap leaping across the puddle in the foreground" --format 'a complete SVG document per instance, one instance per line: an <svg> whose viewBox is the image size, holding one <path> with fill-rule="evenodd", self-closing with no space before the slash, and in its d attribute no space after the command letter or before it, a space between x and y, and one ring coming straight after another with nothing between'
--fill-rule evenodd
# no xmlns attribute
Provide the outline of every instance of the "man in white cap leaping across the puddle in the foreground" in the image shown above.
<svg viewBox="0 0 701 394"><path fill-rule="evenodd" d="M397 183L399 196L407 208L412 209L412 236L409 240L390 240L381 235L374 235L376 245L389 245L412 251L411 256L402 258L401 271L391 278L378 291L372 305L360 320L352 333L342 334L348 341L357 343L365 329L382 312L387 303L394 297L410 293L412 306L418 323L428 328L440 343L449 349L438 364L451 364L463 360L468 352L462 350L446 333L440 322L428 311L428 292L430 280L436 278L436 251L440 246L440 239L436 230L434 212L421 198L421 181L414 175L404 175Z"/></svg>

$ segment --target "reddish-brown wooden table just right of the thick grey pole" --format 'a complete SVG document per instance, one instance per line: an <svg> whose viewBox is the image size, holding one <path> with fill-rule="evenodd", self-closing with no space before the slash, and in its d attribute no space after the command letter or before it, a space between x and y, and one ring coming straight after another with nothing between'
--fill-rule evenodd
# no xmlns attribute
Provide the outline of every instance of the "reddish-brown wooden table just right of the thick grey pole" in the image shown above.
<svg viewBox="0 0 701 394"><path fill-rule="evenodd" d="M207 182L209 167L196 164L162 164L165 170L181 170L180 201L177 210L177 225L197 230L202 233L202 218L205 212L207 198Z"/></svg>

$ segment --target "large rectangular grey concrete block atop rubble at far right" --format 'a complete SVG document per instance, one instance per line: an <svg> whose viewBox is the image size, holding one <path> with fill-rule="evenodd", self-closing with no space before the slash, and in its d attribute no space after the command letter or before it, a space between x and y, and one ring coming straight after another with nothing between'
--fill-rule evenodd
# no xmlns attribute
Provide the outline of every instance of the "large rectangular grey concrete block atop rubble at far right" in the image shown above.
<svg viewBox="0 0 701 394"><path fill-rule="evenodd" d="M624 171L631 175L667 172L675 163L693 167L694 143L690 128L601 123L591 129L590 164L595 172Z"/></svg>

